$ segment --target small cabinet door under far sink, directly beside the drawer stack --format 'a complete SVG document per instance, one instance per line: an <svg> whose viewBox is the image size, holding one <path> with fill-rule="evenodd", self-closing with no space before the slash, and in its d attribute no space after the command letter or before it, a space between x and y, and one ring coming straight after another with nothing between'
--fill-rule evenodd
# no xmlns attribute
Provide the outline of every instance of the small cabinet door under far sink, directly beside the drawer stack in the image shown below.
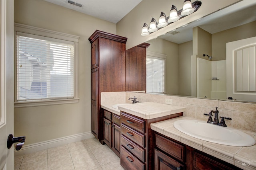
<svg viewBox="0 0 256 170"><path fill-rule="evenodd" d="M112 149L120 155L120 126L112 125Z"/></svg>

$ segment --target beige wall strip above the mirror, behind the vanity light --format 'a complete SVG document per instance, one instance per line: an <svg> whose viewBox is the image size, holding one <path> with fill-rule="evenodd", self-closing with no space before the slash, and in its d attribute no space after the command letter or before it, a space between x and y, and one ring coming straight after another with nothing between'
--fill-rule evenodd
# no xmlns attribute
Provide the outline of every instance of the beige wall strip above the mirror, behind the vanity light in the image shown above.
<svg viewBox="0 0 256 170"><path fill-rule="evenodd" d="M199 10L181 20L178 20L148 36L141 36L143 23L149 24L151 18L157 21L161 12L169 16L170 8L174 4L178 10L182 9L183 2L181 0L142 0L130 13L117 23L117 35L128 37L126 49L130 49L138 44L144 43L150 39L156 38L159 35L167 33L177 27L185 25L194 20L198 20L203 16L211 14L225 6L233 4L239 0L200 0L202 6Z"/></svg>

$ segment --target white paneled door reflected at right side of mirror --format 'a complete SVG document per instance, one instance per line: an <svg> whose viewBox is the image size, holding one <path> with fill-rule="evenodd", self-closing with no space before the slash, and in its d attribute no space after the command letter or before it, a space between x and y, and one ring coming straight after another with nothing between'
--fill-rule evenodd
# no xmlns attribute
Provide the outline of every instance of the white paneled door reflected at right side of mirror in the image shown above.
<svg viewBox="0 0 256 170"><path fill-rule="evenodd" d="M256 37L226 43L226 60L227 98L256 102Z"/></svg>

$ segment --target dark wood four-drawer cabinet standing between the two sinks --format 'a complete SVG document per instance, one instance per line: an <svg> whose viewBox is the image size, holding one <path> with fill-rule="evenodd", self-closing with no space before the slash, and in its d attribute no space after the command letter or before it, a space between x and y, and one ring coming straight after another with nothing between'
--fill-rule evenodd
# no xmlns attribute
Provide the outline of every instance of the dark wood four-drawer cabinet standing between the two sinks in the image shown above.
<svg viewBox="0 0 256 170"><path fill-rule="evenodd" d="M176 113L154 119L142 119L121 111L121 166L125 170L154 169L153 132L150 123L182 116Z"/></svg>

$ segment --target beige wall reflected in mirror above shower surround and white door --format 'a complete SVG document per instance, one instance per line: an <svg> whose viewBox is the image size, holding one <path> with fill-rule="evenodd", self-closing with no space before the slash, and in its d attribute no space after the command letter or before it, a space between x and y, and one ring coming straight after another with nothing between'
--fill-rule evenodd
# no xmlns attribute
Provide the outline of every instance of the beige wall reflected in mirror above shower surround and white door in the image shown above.
<svg viewBox="0 0 256 170"><path fill-rule="evenodd" d="M212 34L212 57L226 59L226 43L256 36L256 21Z"/></svg>

